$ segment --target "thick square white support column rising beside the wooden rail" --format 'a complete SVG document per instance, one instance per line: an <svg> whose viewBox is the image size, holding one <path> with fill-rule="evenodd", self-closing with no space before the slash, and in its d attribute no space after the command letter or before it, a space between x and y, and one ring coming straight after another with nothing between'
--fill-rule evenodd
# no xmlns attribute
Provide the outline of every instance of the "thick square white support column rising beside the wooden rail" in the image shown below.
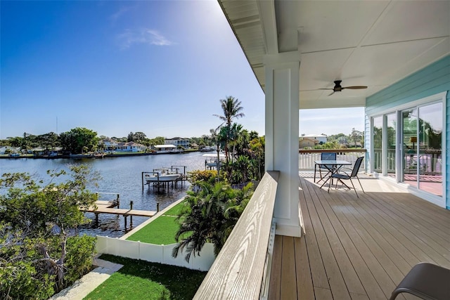
<svg viewBox="0 0 450 300"><path fill-rule="evenodd" d="M280 171L274 219L276 234L300 237L297 51L264 58L266 71L266 170Z"/></svg>

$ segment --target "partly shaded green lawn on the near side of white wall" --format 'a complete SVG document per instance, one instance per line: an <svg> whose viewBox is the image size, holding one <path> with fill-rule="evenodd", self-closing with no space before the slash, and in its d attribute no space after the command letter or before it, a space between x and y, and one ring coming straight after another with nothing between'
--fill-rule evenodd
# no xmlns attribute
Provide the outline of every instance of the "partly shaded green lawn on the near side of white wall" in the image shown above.
<svg viewBox="0 0 450 300"><path fill-rule="evenodd" d="M85 300L192 299L206 272L103 254L101 259L124 265Z"/></svg>

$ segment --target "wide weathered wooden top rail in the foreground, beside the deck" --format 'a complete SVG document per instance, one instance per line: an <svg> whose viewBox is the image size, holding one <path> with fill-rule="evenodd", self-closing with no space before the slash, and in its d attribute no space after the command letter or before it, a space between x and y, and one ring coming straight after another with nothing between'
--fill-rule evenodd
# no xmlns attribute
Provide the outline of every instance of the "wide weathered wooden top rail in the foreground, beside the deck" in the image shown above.
<svg viewBox="0 0 450 300"><path fill-rule="evenodd" d="M194 299L259 299L271 258L269 237L278 171L264 174Z"/></svg>

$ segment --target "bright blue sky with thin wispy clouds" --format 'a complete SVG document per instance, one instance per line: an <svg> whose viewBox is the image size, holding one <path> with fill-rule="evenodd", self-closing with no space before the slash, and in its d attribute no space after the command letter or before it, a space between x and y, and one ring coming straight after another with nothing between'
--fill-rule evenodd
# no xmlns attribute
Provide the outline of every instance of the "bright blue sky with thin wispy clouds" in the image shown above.
<svg viewBox="0 0 450 300"><path fill-rule="evenodd" d="M215 0L0 4L0 138L78 126L202 136L226 96L242 102L238 122L264 134L264 93ZM342 130L300 112L300 133L363 130L358 110Z"/></svg>

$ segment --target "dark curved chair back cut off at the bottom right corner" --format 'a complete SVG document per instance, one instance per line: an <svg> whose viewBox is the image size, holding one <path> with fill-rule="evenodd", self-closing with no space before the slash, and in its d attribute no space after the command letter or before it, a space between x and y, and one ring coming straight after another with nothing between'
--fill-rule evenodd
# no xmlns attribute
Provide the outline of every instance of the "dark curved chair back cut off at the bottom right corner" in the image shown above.
<svg viewBox="0 0 450 300"><path fill-rule="evenodd" d="M394 289L390 300L409 293L426 300L450 299L450 270L432 263L418 263Z"/></svg>

